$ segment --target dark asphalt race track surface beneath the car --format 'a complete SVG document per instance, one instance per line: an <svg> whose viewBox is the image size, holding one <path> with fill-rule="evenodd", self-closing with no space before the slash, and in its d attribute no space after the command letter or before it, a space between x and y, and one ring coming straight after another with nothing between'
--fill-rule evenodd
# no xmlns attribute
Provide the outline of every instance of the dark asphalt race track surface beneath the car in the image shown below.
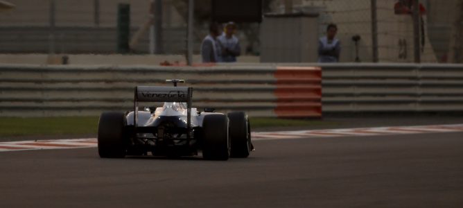
<svg viewBox="0 0 463 208"><path fill-rule="evenodd" d="M0 207L463 207L463 132L255 141L247 159L0 153Z"/></svg>

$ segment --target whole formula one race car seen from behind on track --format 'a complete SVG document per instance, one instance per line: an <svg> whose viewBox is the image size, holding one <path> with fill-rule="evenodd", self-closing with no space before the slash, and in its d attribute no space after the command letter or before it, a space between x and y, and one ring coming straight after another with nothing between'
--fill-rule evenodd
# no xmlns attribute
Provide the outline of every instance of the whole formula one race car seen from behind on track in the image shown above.
<svg viewBox="0 0 463 208"><path fill-rule="evenodd" d="M98 121L100 157L126 155L193 156L227 160L248 157L254 150L250 122L245 112L222 114L191 107L192 88L177 87L184 80L166 80L174 87L137 86L134 110L103 112ZM146 107L139 102L165 102Z"/></svg>

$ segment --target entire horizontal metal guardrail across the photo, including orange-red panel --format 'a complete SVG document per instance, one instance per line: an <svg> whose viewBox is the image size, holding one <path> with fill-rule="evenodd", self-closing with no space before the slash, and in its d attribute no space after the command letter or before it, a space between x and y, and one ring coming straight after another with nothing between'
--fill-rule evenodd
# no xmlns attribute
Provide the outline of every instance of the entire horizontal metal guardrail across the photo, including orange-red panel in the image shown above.
<svg viewBox="0 0 463 208"><path fill-rule="evenodd" d="M251 116L320 117L322 106L323 113L463 112L461 64L1 65L0 116L130 110L135 86L166 86L169 78L193 87L193 107Z"/></svg>

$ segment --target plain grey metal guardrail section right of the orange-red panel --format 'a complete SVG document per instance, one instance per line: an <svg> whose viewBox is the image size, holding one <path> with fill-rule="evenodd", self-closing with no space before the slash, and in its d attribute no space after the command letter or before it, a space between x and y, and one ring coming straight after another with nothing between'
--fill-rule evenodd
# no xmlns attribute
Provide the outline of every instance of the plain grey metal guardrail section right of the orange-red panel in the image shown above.
<svg viewBox="0 0 463 208"><path fill-rule="evenodd" d="M323 67L325 112L463 112L461 64Z"/></svg>

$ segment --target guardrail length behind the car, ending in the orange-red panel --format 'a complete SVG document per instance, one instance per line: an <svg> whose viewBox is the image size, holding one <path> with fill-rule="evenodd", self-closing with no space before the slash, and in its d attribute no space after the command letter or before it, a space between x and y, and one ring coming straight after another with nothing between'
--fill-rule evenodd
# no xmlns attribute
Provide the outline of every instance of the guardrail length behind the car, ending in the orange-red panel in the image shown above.
<svg viewBox="0 0 463 208"><path fill-rule="evenodd" d="M0 67L1 116L98 115L133 108L134 87L185 79L193 107L251 116L320 117L317 67ZM157 103L161 105L161 103ZM149 105L152 105L150 103ZM143 105L140 105L143 106Z"/></svg>

